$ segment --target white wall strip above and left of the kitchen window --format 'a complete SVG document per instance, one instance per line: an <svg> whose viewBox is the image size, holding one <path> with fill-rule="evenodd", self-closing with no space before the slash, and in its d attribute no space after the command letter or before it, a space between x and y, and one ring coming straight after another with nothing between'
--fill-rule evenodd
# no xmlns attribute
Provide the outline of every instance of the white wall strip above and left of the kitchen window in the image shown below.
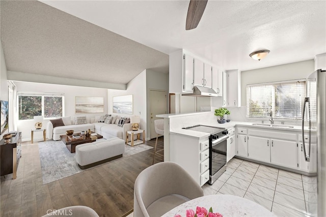
<svg viewBox="0 0 326 217"><path fill-rule="evenodd" d="M241 72L241 105L246 106L247 84L305 79L314 72L314 60Z"/></svg>

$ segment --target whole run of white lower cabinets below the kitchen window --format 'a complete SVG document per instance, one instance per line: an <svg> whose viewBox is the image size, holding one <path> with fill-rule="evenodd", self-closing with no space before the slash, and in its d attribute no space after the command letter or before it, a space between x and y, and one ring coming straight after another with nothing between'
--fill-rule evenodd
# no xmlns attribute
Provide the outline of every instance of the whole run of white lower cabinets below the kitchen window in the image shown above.
<svg viewBox="0 0 326 217"><path fill-rule="evenodd" d="M301 132L252 127L236 129L236 156L308 173L316 172L316 141L311 141L310 162L306 162ZM312 138L316 136L312 135ZM307 140L305 135L305 143Z"/></svg>

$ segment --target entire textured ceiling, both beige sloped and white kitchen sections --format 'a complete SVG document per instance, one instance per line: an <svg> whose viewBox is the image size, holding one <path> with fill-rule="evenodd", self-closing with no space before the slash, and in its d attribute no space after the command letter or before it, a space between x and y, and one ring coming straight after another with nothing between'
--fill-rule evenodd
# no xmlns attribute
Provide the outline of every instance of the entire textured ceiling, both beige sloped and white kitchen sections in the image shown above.
<svg viewBox="0 0 326 217"><path fill-rule="evenodd" d="M189 1L42 2L1 1L10 71L125 84L144 69L167 73L181 48L241 71L326 52L326 1L209 0L187 31ZM249 57L259 49L270 53Z"/></svg>

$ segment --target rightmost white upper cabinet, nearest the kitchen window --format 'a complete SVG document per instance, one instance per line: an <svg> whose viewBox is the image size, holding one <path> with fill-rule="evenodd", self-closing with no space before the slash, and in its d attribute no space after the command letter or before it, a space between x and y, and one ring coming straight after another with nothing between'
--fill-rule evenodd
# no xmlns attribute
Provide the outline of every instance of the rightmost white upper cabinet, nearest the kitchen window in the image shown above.
<svg viewBox="0 0 326 217"><path fill-rule="evenodd" d="M241 106L241 74L239 70L227 71L227 106Z"/></svg>

